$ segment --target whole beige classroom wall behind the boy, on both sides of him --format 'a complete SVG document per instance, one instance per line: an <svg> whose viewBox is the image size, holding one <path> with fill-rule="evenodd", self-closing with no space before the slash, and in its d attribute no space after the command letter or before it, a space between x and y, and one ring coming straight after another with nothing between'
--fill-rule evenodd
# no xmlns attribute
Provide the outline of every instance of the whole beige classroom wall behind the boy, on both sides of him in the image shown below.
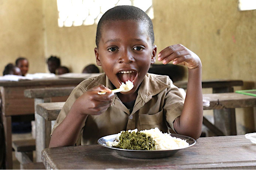
<svg viewBox="0 0 256 170"><path fill-rule="evenodd" d="M238 11L238 0L153 0L153 6L158 52L181 43L201 58L203 79L242 79L235 90L256 88L256 10ZM30 73L47 71L50 55L76 73L95 63L96 26L59 28L57 18L56 0L0 0L0 70L20 55L29 58ZM253 113L237 112L241 133L251 130Z"/></svg>

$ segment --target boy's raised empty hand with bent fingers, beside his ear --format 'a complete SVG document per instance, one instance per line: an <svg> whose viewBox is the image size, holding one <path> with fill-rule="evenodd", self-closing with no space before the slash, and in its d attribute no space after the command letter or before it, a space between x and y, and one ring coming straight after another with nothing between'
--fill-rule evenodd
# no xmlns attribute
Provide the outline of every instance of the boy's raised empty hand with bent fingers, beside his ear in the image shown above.
<svg viewBox="0 0 256 170"><path fill-rule="evenodd" d="M162 61L163 64L173 61L173 64L185 65L189 69L198 68L202 65L197 54L181 44L171 45L160 51L158 61Z"/></svg>

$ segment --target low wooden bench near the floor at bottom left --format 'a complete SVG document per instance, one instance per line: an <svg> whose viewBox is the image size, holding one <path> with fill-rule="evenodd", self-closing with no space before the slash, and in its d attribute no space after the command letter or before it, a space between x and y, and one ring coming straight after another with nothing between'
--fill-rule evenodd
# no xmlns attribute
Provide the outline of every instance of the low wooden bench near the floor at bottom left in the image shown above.
<svg viewBox="0 0 256 170"><path fill-rule="evenodd" d="M42 162L33 162L33 151L35 150L35 139L16 140L12 142L15 157L20 162L21 170L45 169Z"/></svg>

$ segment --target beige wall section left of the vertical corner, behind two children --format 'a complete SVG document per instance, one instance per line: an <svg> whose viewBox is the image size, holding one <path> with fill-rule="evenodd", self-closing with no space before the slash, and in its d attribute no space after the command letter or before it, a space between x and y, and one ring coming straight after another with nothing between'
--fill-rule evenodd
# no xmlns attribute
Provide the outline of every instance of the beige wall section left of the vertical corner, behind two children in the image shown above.
<svg viewBox="0 0 256 170"><path fill-rule="evenodd" d="M0 0L0 76L22 56L29 73L45 72L42 0Z"/></svg>

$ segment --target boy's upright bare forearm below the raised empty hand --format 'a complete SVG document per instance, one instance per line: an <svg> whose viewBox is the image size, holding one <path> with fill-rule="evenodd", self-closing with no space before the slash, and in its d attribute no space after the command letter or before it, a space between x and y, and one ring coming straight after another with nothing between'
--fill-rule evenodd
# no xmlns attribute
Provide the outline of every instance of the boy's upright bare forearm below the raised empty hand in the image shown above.
<svg viewBox="0 0 256 170"><path fill-rule="evenodd" d="M200 137L203 122L202 67L188 69L188 85L182 114L175 130L195 139Z"/></svg>

